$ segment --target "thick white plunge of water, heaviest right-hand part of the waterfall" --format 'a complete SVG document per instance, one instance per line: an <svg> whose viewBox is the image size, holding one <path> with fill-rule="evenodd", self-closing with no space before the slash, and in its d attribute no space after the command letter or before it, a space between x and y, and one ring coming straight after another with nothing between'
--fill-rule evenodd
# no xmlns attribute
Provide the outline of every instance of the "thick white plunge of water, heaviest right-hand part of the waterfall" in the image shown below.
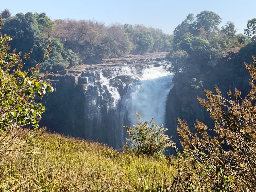
<svg viewBox="0 0 256 192"><path fill-rule="evenodd" d="M137 124L136 112L144 120L154 116L154 122L164 124L166 99L173 87L173 74L163 67L143 69L141 80L129 85L125 99L124 110L132 125Z"/></svg>

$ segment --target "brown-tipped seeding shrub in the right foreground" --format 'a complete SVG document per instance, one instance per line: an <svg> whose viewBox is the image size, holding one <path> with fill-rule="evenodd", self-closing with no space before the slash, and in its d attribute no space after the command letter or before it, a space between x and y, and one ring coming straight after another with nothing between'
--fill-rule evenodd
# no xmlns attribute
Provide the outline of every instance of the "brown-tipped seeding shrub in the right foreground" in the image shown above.
<svg viewBox="0 0 256 192"><path fill-rule="evenodd" d="M245 63L252 77L247 97L242 98L236 89L234 96L229 90L226 99L216 86L216 94L205 90L208 101L198 97L215 121L214 127L197 120L198 133L191 133L187 123L178 119L178 133L190 164L187 166L192 165L195 173L205 172L197 174L198 181L193 183L191 191L256 190L256 58L252 58L254 65Z"/></svg>

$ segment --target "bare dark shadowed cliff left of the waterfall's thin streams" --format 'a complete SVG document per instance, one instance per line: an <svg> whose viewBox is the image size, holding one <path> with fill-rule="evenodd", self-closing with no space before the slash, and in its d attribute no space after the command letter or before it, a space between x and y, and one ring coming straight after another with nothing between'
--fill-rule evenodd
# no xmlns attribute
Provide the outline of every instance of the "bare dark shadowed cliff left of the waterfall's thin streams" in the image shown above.
<svg viewBox="0 0 256 192"><path fill-rule="evenodd" d="M78 77L73 75L54 76L53 94L42 100L46 112L42 115L41 126L48 130L78 137L86 134L84 127L85 84L76 84ZM64 129L65 127L65 129ZM79 130L79 131L78 131Z"/></svg>

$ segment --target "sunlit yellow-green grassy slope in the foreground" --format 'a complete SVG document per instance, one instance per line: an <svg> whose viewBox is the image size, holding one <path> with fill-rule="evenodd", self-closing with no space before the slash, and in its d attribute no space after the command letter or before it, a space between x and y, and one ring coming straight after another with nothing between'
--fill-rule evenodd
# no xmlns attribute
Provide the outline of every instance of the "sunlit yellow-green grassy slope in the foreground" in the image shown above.
<svg viewBox="0 0 256 192"><path fill-rule="evenodd" d="M174 168L117 152L99 143L45 133L43 155L8 155L0 164L0 191L156 191L170 184ZM12 191L12 190L10 190Z"/></svg>

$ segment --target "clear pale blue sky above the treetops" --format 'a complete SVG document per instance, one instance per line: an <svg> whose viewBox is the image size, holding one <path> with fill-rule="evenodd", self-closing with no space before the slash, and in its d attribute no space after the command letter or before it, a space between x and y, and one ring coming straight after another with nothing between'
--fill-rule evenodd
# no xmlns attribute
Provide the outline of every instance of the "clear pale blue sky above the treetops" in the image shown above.
<svg viewBox="0 0 256 192"><path fill-rule="evenodd" d="M247 20L256 18L255 7L254 0L12 0L1 3L0 11L7 8L13 16L20 12L45 12L52 20L95 19L106 25L112 22L144 24L172 34L189 13L196 16L207 10L222 18L220 27L232 21L237 33L243 34Z"/></svg>

